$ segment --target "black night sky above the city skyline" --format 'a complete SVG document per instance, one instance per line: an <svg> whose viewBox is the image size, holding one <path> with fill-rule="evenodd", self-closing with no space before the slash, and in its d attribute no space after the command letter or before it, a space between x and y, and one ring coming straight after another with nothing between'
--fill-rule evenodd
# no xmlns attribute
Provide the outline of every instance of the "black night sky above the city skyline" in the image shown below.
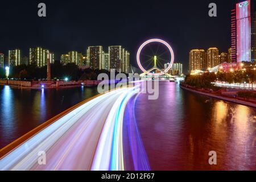
<svg viewBox="0 0 256 182"><path fill-rule="evenodd" d="M47 17L38 16L38 3L47 6ZM208 16L208 5L217 4L217 17ZM197 1L1 1L0 52L41 46L60 55L75 50L85 54L88 46L121 45L136 53L147 39L171 44L175 61L188 69L188 53L194 48L230 47L232 0Z"/></svg>

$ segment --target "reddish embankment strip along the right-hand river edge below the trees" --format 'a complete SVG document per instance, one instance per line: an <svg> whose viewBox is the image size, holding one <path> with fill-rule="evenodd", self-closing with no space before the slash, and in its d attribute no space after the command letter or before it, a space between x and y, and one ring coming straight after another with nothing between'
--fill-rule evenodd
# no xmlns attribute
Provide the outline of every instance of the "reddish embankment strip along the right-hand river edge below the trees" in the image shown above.
<svg viewBox="0 0 256 182"><path fill-rule="evenodd" d="M210 93L208 90L196 90L195 88L193 88L192 86L186 85L186 84L180 84L180 88L188 90L190 92L194 92L194 93L198 93L198 94L202 94L204 96L209 96L209 97L214 97L214 98L218 98L220 100L224 100L224 101L229 101L229 102L234 102L236 104L241 104L241 105L245 105L245 106L250 106L250 107L256 107L256 104L253 102L248 102L248 101L243 101L241 100L241 98L230 98L230 97L226 97L226 96L220 96L217 93Z"/></svg>

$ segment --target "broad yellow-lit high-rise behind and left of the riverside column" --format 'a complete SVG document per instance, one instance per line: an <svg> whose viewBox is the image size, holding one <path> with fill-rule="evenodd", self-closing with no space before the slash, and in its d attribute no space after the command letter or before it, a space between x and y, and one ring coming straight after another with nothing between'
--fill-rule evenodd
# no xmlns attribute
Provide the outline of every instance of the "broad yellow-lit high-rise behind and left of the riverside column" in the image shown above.
<svg viewBox="0 0 256 182"><path fill-rule="evenodd" d="M45 65L47 65L48 56L50 56L50 62L53 63L54 54L50 53L49 50L42 47L30 48L29 63L35 64L38 67L44 67Z"/></svg>

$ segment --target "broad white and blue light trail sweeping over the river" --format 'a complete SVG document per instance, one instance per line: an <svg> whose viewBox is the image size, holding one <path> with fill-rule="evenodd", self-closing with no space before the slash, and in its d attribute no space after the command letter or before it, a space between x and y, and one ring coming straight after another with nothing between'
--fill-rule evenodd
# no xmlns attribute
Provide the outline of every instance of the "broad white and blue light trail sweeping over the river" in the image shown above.
<svg viewBox="0 0 256 182"><path fill-rule="evenodd" d="M139 86L103 94L57 119L0 160L0 170L124 170L122 121ZM46 165L39 165L39 152Z"/></svg>

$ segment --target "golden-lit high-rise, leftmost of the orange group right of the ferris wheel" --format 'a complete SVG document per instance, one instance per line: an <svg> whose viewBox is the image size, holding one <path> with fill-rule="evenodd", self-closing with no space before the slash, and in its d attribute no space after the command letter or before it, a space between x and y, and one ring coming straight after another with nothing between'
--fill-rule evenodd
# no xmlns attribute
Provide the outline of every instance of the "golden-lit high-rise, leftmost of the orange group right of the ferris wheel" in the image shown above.
<svg viewBox="0 0 256 182"><path fill-rule="evenodd" d="M207 69L207 53L204 49L193 49L189 52L189 73Z"/></svg>

